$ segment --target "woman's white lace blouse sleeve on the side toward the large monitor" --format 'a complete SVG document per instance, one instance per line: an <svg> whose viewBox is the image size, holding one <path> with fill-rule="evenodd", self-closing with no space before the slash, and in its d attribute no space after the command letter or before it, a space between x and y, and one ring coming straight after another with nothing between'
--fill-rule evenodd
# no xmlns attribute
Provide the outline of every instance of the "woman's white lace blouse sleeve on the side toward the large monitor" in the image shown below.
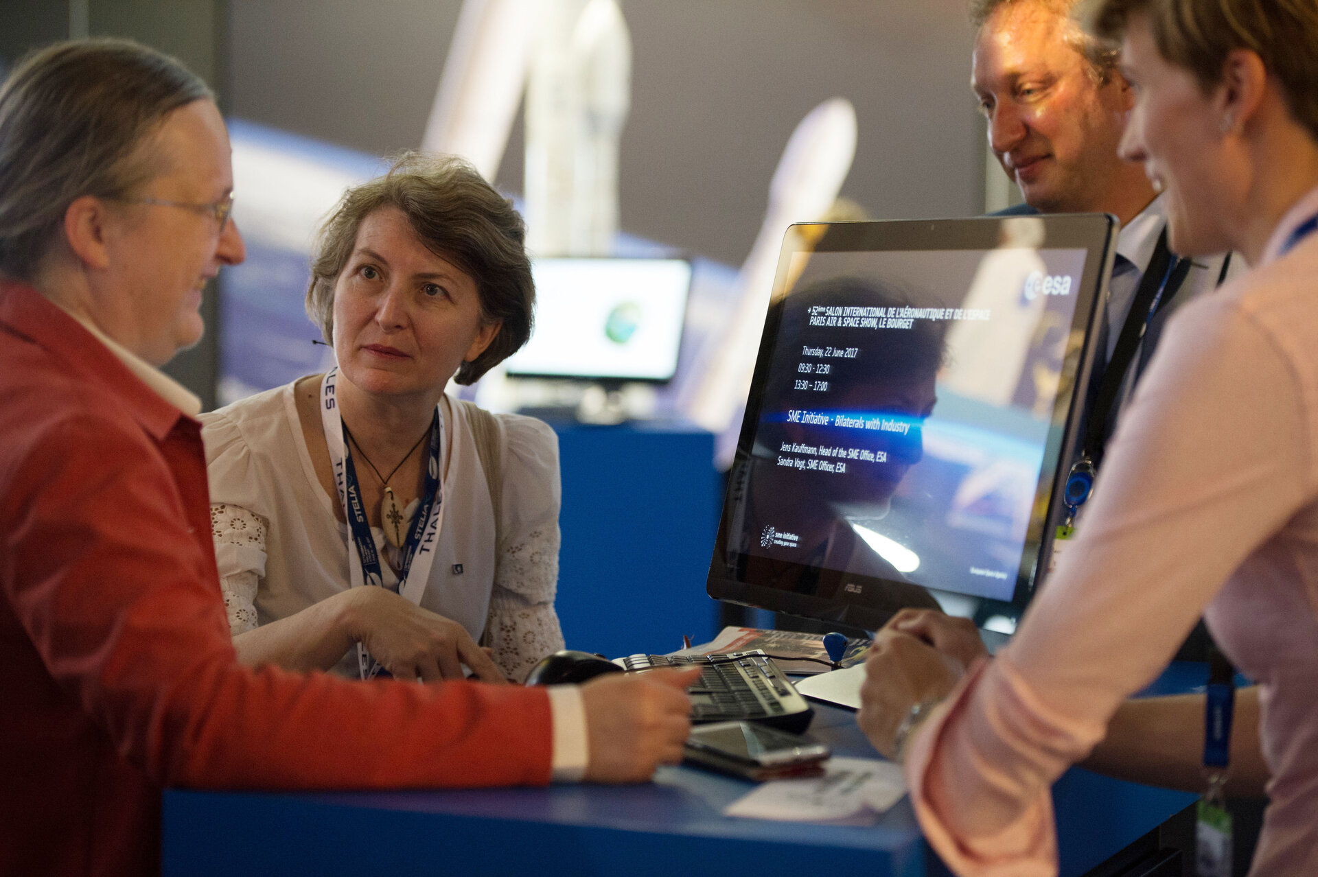
<svg viewBox="0 0 1318 877"><path fill-rule="evenodd" d="M554 611L563 495L559 438L534 417L500 415L500 421L503 492L489 645L500 669L521 682L536 661L563 648Z"/></svg>

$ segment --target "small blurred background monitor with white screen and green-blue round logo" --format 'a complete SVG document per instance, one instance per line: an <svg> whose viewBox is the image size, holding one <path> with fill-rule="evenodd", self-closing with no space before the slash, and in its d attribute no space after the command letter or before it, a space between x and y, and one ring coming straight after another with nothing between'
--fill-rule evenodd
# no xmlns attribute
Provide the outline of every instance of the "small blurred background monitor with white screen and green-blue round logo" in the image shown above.
<svg viewBox="0 0 1318 877"><path fill-rule="evenodd" d="M685 259L540 258L535 332L507 374L667 382L677 370L691 290Z"/></svg>

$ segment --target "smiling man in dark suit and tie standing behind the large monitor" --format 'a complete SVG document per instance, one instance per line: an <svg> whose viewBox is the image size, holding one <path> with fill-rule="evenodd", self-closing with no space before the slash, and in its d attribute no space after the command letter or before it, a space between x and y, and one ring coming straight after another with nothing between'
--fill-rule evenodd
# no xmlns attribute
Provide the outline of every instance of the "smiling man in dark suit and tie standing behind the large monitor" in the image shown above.
<svg viewBox="0 0 1318 877"><path fill-rule="evenodd" d="M1217 286L1228 259L1222 255L1178 265L1161 244L1166 199L1140 165L1116 154L1126 113L1133 105L1131 86L1116 68L1116 49L1085 33L1066 5L971 0L970 21L978 33L970 86L988 122L990 149L1025 198L1024 204L1003 213L1102 212L1122 224L1097 382L1103 379L1123 333L1136 336L1137 342L1127 357L1119 357L1124 361L1118 362L1114 404L1098 412L1106 437L1166 317ZM1151 278L1145 295L1139 296L1151 265L1159 277ZM1090 407L1098 391L1095 383ZM1097 465L1102 446L1090 450Z"/></svg>

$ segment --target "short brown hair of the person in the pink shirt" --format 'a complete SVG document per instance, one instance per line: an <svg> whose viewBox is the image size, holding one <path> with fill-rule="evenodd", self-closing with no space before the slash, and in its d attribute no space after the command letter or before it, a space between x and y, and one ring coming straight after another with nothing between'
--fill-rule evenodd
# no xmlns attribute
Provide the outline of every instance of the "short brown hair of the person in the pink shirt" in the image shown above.
<svg viewBox="0 0 1318 877"><path fill-rule="evenodd" d="M1131 16L1148 16L1166 61L1205 91L1222 82L1234 49L1248 49L1277 78L1286 108L1318 140L1318 4L1314 0L1101 0L1090 29L1119 40Z"/></svg>

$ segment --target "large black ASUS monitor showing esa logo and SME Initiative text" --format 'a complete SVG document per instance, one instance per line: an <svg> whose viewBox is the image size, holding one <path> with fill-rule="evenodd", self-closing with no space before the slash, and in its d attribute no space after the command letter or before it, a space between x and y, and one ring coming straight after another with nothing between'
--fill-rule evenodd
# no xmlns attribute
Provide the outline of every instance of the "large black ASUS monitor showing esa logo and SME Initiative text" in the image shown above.
<svg viewBox="0 0 1318 877"><path fill-rule="evenodd" d="M1102 215L793 225L709 595L871 631L903 607L1014 624L1115 236Z"/></svg>

